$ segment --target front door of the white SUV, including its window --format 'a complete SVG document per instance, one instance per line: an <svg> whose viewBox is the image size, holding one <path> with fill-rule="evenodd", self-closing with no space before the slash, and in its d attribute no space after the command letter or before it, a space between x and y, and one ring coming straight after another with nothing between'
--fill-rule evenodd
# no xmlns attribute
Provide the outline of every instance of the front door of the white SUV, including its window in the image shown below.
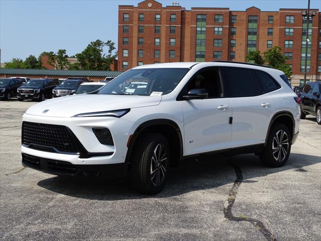
<svg viewBox="0 0 321 241"><path fill-rule="evenodd" d="M185 86L183 93L191 89L206 89L207 99L182 100L184 115L185 155L229 149L231 147L232 105L224 98L219 69L200 70Z"/></svg>

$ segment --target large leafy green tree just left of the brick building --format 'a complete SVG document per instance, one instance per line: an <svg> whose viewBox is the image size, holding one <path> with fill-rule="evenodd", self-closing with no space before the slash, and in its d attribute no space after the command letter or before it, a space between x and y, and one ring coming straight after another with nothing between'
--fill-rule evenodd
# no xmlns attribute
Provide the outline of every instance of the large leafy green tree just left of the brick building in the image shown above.
<svg viewBox="0 0 321 241"><path fill-rule="evenodd" d="M116 49L114 45L115 43L110 40L103 42L98 39L90 42L81 53L76 54L78 63L72 67L78 66L80 69L88 70L110 70L110 65L117 56L117 53L113 54ZM104 53L106 47L108 50L107 53Z"/></svg>

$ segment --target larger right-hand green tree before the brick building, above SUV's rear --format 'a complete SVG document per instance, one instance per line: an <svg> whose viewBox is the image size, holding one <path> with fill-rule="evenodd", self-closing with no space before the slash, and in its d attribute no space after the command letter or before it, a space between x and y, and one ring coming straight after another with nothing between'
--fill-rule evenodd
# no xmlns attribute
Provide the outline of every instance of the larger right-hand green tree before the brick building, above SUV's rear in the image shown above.
<svg viewBox="0 0 321 241"><path fill-rule="evenodd" d="M286 63L287 57L282 55L281 48L274 46L268 51L264 52L264 61L267 63L267 66L278 69L284 72L286 77L292 75L291 67Z"/></svg>

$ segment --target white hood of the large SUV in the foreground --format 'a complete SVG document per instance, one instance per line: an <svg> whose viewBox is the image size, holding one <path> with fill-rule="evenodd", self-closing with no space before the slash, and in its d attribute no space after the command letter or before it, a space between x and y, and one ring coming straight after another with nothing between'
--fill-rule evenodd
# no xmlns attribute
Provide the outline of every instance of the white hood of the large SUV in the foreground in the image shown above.
<svg viewBox="0 0 321 241"><path fill-rule="evenodd" d="M31 106L26 114L71 117L80 113L157 105L162 96L77 94L48 99ZM44 110L48 111L43 113Z"/></svg>

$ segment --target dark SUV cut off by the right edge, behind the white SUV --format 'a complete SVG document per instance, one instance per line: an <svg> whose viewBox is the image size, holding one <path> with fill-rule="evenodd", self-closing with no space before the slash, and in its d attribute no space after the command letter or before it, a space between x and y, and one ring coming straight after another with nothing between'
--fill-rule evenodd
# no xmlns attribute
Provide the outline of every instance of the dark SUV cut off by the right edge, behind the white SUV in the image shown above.
<svg viewBox="0 0 321 241"><path fill-rule="evenodd" d="M301 98L301 105L299 107L301 119L304 119L307 114L312 114L316 116L317 124L321 125L320 93L320 82L309 82L304 84L302 91L298 94Z"/></svg>

